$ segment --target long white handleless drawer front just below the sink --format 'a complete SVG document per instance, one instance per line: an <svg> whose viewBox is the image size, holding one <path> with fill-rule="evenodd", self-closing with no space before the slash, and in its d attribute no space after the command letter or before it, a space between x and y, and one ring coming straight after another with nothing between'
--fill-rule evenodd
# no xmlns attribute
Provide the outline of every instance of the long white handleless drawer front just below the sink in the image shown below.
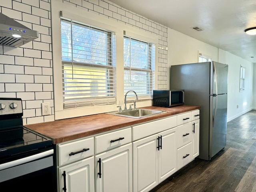
<svg viewBox="0 0 256 192"><path fill-rule="evenodd" d="M174 128L177 116L172 116L132 127L133 141Z"/></svg>

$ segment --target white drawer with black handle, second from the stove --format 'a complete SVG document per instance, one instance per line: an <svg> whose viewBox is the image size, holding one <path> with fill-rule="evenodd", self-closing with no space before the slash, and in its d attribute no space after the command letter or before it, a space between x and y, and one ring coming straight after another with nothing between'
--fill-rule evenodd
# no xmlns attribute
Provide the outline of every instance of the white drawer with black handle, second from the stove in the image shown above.
<svg viewBox="0 0 256 192"><path fill-rule="evenodd" d="M96 154L132 142L132 128L95 137Z"/></svg>

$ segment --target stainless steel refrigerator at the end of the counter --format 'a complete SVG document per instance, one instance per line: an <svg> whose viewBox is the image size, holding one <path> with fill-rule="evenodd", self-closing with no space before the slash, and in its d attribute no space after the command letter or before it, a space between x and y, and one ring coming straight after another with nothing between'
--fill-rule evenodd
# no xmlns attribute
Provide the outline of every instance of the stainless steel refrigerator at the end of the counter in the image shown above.
<svg viewBox="0 0 256 192"><path fill-rule="evenodd" d="M228 65L212 61L171 66L170 88L185 90L185 105L201 106L198 158L210 160L226 146Z"/></svg>

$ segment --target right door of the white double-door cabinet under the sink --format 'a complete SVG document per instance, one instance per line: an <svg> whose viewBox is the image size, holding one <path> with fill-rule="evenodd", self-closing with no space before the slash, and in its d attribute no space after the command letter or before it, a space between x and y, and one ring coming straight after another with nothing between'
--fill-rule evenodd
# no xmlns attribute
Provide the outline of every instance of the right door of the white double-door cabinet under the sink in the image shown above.
<svg viewBox="0 0 256 192"><path fill-rule="evenodd" d="M158 182L162 182L177 170L177 128L161 132L158 151Z"/></svg>

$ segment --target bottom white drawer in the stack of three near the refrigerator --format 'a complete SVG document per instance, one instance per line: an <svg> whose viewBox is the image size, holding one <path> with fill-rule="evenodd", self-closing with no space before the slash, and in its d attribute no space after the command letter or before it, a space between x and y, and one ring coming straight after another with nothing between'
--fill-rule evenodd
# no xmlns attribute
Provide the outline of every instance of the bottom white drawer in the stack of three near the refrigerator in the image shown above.
<svg viewBox="0 0 256 192"><path fill-rule="evenodd" d="M177 170L192 160L191 142L177 150Z"/></svg>

